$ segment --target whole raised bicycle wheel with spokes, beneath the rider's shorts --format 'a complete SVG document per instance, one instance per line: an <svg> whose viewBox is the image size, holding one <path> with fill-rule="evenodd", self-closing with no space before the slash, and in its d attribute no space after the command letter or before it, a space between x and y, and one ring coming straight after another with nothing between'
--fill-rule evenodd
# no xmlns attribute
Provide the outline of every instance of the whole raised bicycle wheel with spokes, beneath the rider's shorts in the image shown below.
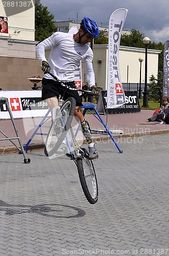
<svg viewBox="0 0 169 256"><path fill-rule="evenodd" d="M69 97L59 110L55 120L53 120L48 135L46 137L44 153L46 156L54 155L61 146L66 134L71 126L75 111L76 101Z"/></svg>

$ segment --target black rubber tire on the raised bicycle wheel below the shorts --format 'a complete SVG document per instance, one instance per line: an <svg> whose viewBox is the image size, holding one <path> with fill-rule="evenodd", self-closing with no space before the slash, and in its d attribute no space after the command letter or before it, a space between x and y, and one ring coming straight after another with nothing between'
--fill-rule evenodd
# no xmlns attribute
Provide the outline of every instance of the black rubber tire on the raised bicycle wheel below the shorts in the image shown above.
<svg viewBox="0 0 169 256"><path fill-rule="evenodd" d="M46 144L47 144L47 141L50 137L51 130L53 130L53 127L55 126L55 124L52 123L51 126L50 126L48 135L46 137L45 147L44 147L44 153L45 153L46 156L49 156L49 157L53 156L57 152L57 150L61 146L61 144L62 144L63 140L65 139L66 134L67 134L67 132L68 132L70 126L71 126L71 122L73 120L75 106L76 106L75 99L73 97L69 97L67 100L65 100L65 102L61 106L60 112L64 109L64 106L67 104L68 101L70 101L71 106L70 106L69 116L68 116L67 122L65 124L65 128L64 128L60 138L58 139L58 141L53 146L53 148L51 148L50 151L47 151Z"/></svg>

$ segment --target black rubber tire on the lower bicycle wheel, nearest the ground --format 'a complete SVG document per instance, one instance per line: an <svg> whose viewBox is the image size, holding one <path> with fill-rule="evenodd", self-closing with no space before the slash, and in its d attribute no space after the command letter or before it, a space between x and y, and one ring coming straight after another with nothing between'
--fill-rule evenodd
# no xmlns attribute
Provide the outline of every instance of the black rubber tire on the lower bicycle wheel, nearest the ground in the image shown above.
<svg viewBox="0 0 169 256"><path fill-rule="evenodd" d="M86 163L90 162L90 164L92 166L92 172L93 172L95 183L96 183L95 184L96 185L96 197L95 198L92 197L92 195L88 189L88 185L87 185L84 170L83 170L83 164L82 164L83 161L86 161ZM85 196L90 204L97 203L97 201L98 201L98 184L97 184L97 177L96 177L93 162L84 156L84 157L79 157L76 159L76 165L77 165L78 176L79 176L79 180L80 180L80 184L81 184L83 193L85 194Z"/></svg>

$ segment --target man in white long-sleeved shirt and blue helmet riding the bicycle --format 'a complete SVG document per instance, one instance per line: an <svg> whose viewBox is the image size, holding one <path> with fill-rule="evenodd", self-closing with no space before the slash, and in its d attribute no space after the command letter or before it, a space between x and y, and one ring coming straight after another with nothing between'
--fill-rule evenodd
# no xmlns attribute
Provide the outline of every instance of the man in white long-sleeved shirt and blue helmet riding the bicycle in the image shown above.
<svg viewBox="0 0 169 256"><path fill-rule="evenodd" d="M94 37L98 37L99 28L94 20L83 17L80 28L76 34L55 32L36 47L37 57L41 60L41 69L44 72L42 79L42 100L46 99L50 111L58 105L59 95L64 90L61 81L75 88L74 71L80 60L85 61L85 72L92 94L96 92L95 74L93 70L93 51L88 43ZM51 49L48 61L45 57L45 49ZM49 74L52 73L59 79L56 81ZM79 118L82 133L85 136L89 147L89 159L97 159L98 153L91 136L90 125L81 112L82 102L75 90L67 90L64 99L73 97L76 100L74 115Z"/></svg>

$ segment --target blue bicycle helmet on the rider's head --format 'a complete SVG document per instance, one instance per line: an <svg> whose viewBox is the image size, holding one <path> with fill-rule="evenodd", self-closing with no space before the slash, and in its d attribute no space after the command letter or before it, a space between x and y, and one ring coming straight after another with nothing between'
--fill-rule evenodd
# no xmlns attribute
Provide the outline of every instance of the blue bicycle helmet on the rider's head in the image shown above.
<svg viewBox="0 0 169 256"><path fill-rule="evenodd" d="M99 35L99 28L98 28L97 24L94 22L94 20L92 20L88 17L83 17L83 19L81 20L81 23L80 23L80 28L83 30L86 30L94 37L98 37L98 35Z"/></svg>

